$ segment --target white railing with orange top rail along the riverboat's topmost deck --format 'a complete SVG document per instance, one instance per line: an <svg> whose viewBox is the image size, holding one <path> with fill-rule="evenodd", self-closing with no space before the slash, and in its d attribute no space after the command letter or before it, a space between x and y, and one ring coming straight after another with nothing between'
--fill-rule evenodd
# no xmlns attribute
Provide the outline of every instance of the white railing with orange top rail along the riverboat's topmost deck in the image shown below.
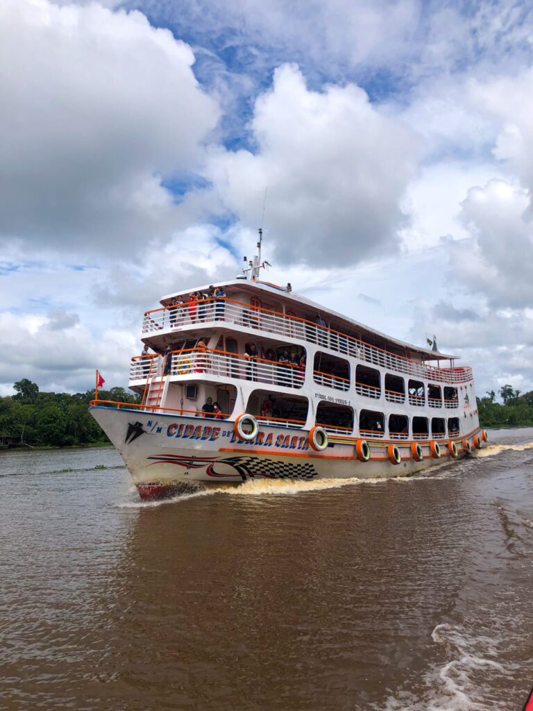
<svg viewBox="0 0 533 711"><path fill-rule="evenodd" d="M191 324L202 325L212 321L276 333L289 341L296 338L300 341L315 343L322 348L329 348L330 351L350 355L364 363L424 378L431 382L468 383L472 380L471 368L434 368L431 365L404 358L402 355L389 353L377 346L370 346L364 341L348 336L347 333L341 333L322 324L301 319L299 316L281 314L279 311L264 309L262 306L251 306L227 297L189 301L177 306L163 306L160 309L146 311L143 333L173 330Z"/></svg>

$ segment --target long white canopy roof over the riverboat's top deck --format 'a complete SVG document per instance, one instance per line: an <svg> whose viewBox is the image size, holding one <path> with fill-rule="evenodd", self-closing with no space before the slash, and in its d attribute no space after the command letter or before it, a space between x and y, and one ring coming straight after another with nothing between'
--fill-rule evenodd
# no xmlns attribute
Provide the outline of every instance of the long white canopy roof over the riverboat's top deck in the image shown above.
<svg viewBox="0 0 533 711"><path fill-rule="evenodd" d="M258 292L261 294L268 294L270 298L276 295L278 299L283 299L286 304L291 304L294 306L301 306L303 309L308 309L313 311L313 314L324 316L333 316L335 319L335 327L341 326L341 324L346 324L350 329L357 328L362 333L367 333L372 336L377 336L386 343L390 343L397 348L404 348L410 352L412 355L419 355L419 358L423 361L430 360L459 360L457 355L450 355L449 353L441 353L440 351L430 351L429 348L421 348L421 346L414 346L412 343L407 343L406 341L399 341L397 338L392 338L392 336L387 336L386 333L381 333L381 331L376 331L375 328L370 328L370 326L365 326L365 324L360 324L359 321L348 318L344 314L339 314L337 311L325 308L321 304L317 304L316 301L311 301L306 296L301 294L296 294L296 292L287 289L287 287L280 287L278 284L272 284L271 282L264 282L261 280L251 281L249 279L243 279L242 277L237 277L236 279L231 279L228 282L212 282L212 284L204 285L202 287L193 287L191 289L185 289L181 292L174 292L173 294L167 294L162 296L159 303L162 306L168 306L171 304L172 299L176 296L182 296L183 301L187 301L185 298L185 292L190 294L191 292L208 292L210 286L213 287L228 287L233 291L239 292L249 292L251 296L259 296ZM287 285L289 287L289 284ZM290 306L289 306L290 308ZM341 330L341 328L339 328Z"/></svg>

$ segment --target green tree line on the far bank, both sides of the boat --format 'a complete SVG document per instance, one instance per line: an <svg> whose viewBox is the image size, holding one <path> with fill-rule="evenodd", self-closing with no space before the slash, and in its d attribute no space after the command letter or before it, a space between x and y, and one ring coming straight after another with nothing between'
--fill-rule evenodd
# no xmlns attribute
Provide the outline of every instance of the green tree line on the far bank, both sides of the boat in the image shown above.
<svg viewBox="0 0 533 711"><path fill-rule="evenodd" d="M28 378L14 384L15 395L0 397L0 445L11 447L69 447L87 444L107 444L109 439L90 415L89 403L95 390L75 392L40 392ZM511 385L499 390L502 402L490 390L478 397L478 413L482 427L533 426L533 390L523 395ZM139 395L123 387L99 390L100 400L139 403Z"/></svg>

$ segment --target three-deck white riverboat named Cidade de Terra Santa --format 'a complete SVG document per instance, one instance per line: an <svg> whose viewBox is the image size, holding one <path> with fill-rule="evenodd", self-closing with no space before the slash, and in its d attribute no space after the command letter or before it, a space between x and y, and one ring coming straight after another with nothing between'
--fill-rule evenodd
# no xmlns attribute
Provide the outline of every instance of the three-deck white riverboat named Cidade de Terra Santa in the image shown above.
<svg viewBox="0 0 533 711"><path fill-rule="evenodd" d="M236 279L146 311L152 352L129 374L139 404L91 402L141 499L249 479L409 476L483 446L471 368L263 281L257 246Z"/></svg>

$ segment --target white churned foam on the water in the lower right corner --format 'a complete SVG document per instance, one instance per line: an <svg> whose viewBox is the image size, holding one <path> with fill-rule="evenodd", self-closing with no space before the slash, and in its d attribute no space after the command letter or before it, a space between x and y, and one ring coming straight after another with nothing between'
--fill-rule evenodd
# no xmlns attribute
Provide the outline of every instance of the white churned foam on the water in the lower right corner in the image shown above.
<svg viewBox="0 0 533 711"><path fill-rule="evenodd" d="M497 711L494 681L510 674L496 661L501 639L470 634L461 626L438 624L431 633L434 642L446 646L442 665L424 675L424 690L416 695L400 690L387 698L385 711Z"/></svg>

